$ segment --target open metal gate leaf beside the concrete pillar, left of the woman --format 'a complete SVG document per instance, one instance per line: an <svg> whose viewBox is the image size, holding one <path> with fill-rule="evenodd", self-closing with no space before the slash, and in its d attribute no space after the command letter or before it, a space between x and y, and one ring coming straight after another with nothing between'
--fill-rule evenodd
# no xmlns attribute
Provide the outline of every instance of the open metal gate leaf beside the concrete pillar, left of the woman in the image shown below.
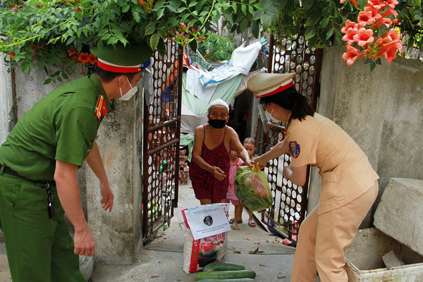
<svg viewBox="0 0 423 282"><path fill-rule="evenodd" d="M152 58L153 93L144 101L142 241L170 224L178 204L180 85L183 49L168 42L164 56Z"/></svg>

